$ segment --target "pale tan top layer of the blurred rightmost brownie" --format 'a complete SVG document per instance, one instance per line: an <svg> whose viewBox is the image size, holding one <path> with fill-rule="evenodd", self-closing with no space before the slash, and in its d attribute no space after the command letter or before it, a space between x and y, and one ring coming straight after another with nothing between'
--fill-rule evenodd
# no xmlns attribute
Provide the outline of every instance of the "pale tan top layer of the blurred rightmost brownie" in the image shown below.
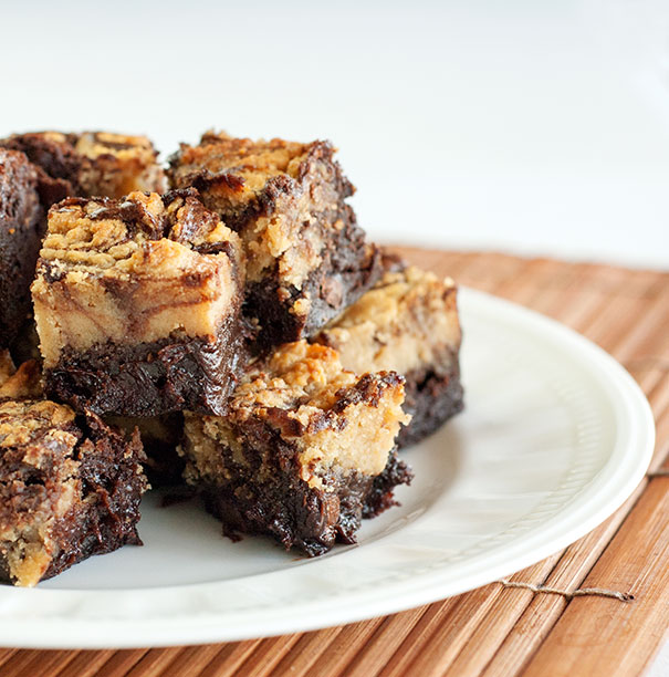
<svg viewBox="0 0 669 677"><path fill-rule="evenodd" d="M415 267L386 273L316 337L348 369L400 374L450 361L460 340L456 284Z"/></svg>

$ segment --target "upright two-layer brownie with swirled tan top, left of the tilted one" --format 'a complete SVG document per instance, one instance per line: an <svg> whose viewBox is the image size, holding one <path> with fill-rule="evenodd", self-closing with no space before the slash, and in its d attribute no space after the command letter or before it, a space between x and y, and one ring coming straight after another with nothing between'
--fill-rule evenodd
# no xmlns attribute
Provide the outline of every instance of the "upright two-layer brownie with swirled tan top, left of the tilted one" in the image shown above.
<svg viewBox="0 0 669 677"><path fill-rule="evenodd" d="M32 285L48 395L100 415L222 413L243 281L239 237L196 190L59 202Z"/></svg>

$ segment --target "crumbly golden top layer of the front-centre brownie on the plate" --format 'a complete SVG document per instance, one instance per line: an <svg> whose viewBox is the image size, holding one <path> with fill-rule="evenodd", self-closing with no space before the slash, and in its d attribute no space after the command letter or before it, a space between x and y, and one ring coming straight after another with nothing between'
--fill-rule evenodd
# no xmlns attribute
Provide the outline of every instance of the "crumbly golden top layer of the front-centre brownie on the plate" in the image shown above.
<svg viewBox="0 0 669 677"><path fill-rule="evenodd" d="M197 450L198 476L211 480L224 473L211 440L240 448L263 426L293 445L301 478L320 487L333 470L372 476L384 470L399 426L409 419L403 402L398 374L359 376L342 368L335 351L299 341L250 369L227 416L195 423L187 416L187 435Z"/></svg>

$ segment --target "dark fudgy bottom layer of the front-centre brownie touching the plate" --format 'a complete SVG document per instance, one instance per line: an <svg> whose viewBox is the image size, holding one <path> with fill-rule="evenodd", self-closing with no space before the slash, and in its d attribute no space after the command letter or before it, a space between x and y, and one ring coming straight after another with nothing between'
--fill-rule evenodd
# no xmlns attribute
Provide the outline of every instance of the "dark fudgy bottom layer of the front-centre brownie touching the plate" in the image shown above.
<svg viewBox="0 0 669 677"><path fill-rule="evenodd" d="M240 465L229 485L203 489L207 510L221 520L223 533L233 540L240 533L266 534L286 550L297 548L309 556L321 555L335 542L355 543L360 520L393 506L393 489L410 483L412 478L393 451L379 476L331 476L323 489L313 489L299 479L291 445L278 436L273 444L276 452L272 468L257 451L243 447L250 465ZM259 480L261 466L265 481Z"/></svg>

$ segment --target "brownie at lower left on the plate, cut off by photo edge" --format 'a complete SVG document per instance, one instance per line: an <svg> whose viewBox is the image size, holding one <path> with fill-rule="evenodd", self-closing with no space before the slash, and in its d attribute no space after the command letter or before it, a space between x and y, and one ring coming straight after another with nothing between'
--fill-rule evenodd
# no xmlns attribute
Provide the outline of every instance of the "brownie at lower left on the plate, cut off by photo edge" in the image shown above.
<svg viewBox="0 0 669 677"><path fill-rule="evenodd" d="M32 586L137 535L139 436L49 400L0 402L0 581Z"/></svg>

